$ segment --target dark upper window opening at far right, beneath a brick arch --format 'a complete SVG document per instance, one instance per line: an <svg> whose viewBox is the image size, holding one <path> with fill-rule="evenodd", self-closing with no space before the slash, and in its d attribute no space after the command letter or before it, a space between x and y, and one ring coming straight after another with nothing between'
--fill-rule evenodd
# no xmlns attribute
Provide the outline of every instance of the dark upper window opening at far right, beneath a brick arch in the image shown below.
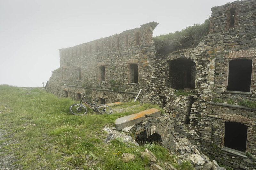
<svg viewBox="0 0 256 170"><path fill-rule="evenodd" d="M237 59L229 62L227 90L250 92L252 60Z"/></svg>

